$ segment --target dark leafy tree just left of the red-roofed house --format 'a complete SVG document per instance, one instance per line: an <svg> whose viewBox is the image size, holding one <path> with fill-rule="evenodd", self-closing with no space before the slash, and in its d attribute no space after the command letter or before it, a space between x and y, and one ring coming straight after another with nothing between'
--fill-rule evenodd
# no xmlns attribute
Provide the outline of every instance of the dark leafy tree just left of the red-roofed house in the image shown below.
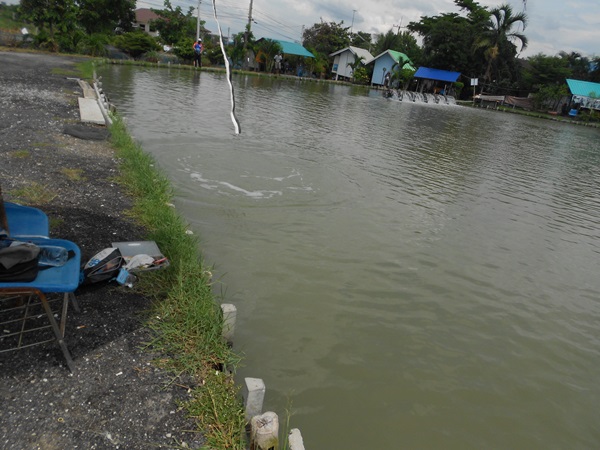
<svg viewBox="0 0 600 450"><path fill-rule="evenodd" d="M135 21L135 0L77 0L77 20L88 34L125 30Z"/></svg>

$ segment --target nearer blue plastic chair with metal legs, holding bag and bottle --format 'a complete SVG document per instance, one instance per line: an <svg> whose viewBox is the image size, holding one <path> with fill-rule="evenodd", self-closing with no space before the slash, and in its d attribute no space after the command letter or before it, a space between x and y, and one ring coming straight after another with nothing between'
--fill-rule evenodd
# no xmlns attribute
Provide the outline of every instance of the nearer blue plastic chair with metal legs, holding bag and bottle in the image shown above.
<svg viewBox="0 0 600 450"><path fill-rule="evenodd" d="M34 244L43 245L55 245L64 247L67 250L73 251L74 256L71 257L63 266L50 267L45 270L40 270L36 279L31 282L0 282L0 300L14 300L15 297L23 299L22 304L17 307L3 308L2 317L3 320L0 325L5 332L2 336L3 341L8 341L8 338L13 337L16 341L16 345L10 348L0 348L0 352L6 352L10 350L18 350L24 347L31 347L33 345L44 344L46 342L56 341L58 346L63 352L63 355L67 361L67 366L71 372L74 372L75 366L73 359L65 343L65 326L67 321L67 309L69 306L69 297L73 301L75 310L79 310L77 301L73 292L79 286L79 272L81 265L81 251L79 247L71 241L64 239L49 239L49 238L27 238L28 242ZM51 301L48 300L46 294L49 293L64 293L62 299L62 305L60 307L60 320L57 322L54 317L55 312L52 310ZM36 300L37 299L37 300ZM25 302L26 300L26 302ZM34 320L39 319L39 314L32 314L32 310L41 304L49 325L44 327L35 326L35 328L27 328L28 323L33 323ZM18 310L19 319L15 320L15 310ZM8 313L6 311L9 311ZM7 317L5 314L9 315ZM12 315L11 315L12 314ZM42 315L43 317L43 315ZM29 322L28 322L29 321ZM26 341L26 334L28 333L39 333L42 328L51 328L54 333L54 339L36 340L30 344L24 344ZM33 334L31 334L33 335ZM35 334L37 336L37 334ZM12 342L12 341L11 341Z"/></svg>

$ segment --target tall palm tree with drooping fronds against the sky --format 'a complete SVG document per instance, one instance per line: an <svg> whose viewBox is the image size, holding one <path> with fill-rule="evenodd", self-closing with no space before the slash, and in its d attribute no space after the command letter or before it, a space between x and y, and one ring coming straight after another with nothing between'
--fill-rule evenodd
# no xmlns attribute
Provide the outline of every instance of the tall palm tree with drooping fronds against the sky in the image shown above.
<svg viewBox="0 0 600 450"><path fill-rule="evenodd" d="M504 3L490 11L488 29L484 31L482 39L477 47L485 48L485 58L487 59L487 68L484 79L490 81L492 74L492 65L500 54L500 48L503 43L519 41L521 51L527 47L527 36L517 31L512 31L513 27L520 23L523 30L527 26L527 15L524 12L513 13L512 7Z"/></svg>

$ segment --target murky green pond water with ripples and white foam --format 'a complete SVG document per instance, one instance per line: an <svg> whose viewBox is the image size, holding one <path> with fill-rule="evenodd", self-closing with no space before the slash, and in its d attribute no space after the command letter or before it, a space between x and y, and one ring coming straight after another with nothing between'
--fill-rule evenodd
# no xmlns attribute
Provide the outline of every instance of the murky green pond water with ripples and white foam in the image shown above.
<svg viewBox="0 0 600 450"><path fill-rule="evenodd" d="M600 445L600 130L102 68L309 449Z"/></svg>

